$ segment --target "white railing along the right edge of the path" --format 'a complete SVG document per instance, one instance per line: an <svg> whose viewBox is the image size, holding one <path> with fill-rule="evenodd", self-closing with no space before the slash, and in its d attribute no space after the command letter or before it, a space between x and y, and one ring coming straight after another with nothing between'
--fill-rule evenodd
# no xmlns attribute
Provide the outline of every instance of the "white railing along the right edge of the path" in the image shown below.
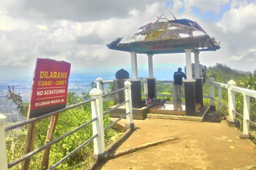
<svg viewBox="0 0 256 170"><path fill-rule="evenodd" d="M214 78L210 78L210 99L211 105L214 106L214 102L218 103L218 112L222 112L222 106L228 108L229 119L236 119L236 115L243 117L243 134L249 135L250 133L250 123L256 126L256 123L250 120L250 97L256 98L256 91L245 89L235 86L236 83L230 80L228 84L214 82ZM214 86L218 87L218 100L215 100ZM228 90L228 106L222 104L222 88ZM243 94L243 115L236 112L236 96L235 92Z"/></svg>

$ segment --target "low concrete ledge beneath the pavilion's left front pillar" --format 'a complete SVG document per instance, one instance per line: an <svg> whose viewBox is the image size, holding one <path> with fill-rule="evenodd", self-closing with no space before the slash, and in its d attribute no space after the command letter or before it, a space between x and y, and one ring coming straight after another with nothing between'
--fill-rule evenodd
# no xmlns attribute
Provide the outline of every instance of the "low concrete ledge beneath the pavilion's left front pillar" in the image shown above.
<svg viewBox="0 0 256 170"><path fill-rule="evenodd" d="M111 106L109 107L109 109L115 107ZM132 108L132 118L133 119L140 119L140 120L144 120L147 118L147 114L149 113L149 109L151 107L154 107L153 104L143 104L143 107L141 108ZM110 112L109 115L112 117L121 117L123 115L126 114L126 107L125 105L122 105L120 107L118 107L117 109L115 109L114 111Z"/></svg>

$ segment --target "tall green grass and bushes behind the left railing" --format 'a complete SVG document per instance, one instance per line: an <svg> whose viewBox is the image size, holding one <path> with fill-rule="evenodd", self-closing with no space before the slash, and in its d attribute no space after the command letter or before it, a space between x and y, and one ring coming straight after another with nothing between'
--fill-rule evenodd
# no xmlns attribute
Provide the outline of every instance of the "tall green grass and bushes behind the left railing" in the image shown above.
<svg viewBox="0 0 256 170"><path fill-rule="evenodd" d="M77 97L73 92L68 95L68 105L80 102L88 97L84 95L82 98ZM103 109L107 110L109 106L113 105L112 101L104 102ZM108 115L104 116L104 127L110 124ZM46 118L36 123L36 131L33 143L33 149L36 149L44 145L47 127L49 125L50 118ZM66 112L60 113L54 139L75 129L76 127L84 124L85 122L91 120L91 105L90 103L84 104L82 106L70 109ZM8 162L23 155L24 146L26 142L26 127L23 130L12 130L8 134L6 133L6 148ZM105 145L109 145L111 142L111 137L120 133L120 131L109 128L104 132ZM79 147L82 143L93 136L92 124L90 123L85 128L77 131L76 133L64 138L58 143L52 145L51 152L49 156L49 167L61 158L69 154L75 148ZM93 154L93 141L89 142L85 147L76 152L73 156L63 162L56 169L82 169L88 164L92 159ZM40 169L42 160L42 152L35 154L31 157L29 169ZM18 164L11 169L20 169L21 164Z"/></svg>

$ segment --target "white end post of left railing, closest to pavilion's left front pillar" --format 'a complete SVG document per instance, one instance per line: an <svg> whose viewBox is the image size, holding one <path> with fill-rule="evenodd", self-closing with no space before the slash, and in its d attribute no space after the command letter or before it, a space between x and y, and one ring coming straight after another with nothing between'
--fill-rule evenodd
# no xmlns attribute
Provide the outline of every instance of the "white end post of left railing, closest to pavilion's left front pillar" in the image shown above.
<svg viewBox="0 0 256 170"><path fill-rule="evenodd" d="M126 113L130 112L126 116L126 129L135 129L134 123L132 122L132 104L131 104L131 82L126 81L125 87L128 87L125 89L125 100L129 100L129 102L125 103L126 106Z"/></svg>

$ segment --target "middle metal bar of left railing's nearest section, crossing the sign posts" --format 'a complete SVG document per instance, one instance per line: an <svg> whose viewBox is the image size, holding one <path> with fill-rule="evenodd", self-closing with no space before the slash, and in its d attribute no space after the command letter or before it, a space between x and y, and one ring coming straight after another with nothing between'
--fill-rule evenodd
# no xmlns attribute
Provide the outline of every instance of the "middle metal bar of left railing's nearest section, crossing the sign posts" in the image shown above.
<svg viewBox="0 0 256 170"><path fill-rule="evenodd" d="M13 167L14 165L16 165L16 164L22 162L23 160L25 160L25 159L27 159L27 158L37 154L38 152L44 150L45 148L48 148L49 146L52 146L53 144L57 143L58 141L62 140L63 138L65 138L65 137L75 133L76 131L80 130L81 128L85 127L89 123L94 122L95 120L97 120L97 118L94 118L94 119L92 119L92 120L90 120L90 121L80 125L76 129L73 129L72 131L70 131L70 132L68 132L68 133L66 133L66 134L64 134L64 135L62 135L62 136L60 136L60 137L58 137L58 138L48 142L48 143L46 143L45 145L43 145L43 146L41 146L41 147L39 147L39 148L29 152L29 153L27 153L26 155L23 155L23 156L19 157L18 159L15 159L13 162L8 163L8 168Z"/></svg>

